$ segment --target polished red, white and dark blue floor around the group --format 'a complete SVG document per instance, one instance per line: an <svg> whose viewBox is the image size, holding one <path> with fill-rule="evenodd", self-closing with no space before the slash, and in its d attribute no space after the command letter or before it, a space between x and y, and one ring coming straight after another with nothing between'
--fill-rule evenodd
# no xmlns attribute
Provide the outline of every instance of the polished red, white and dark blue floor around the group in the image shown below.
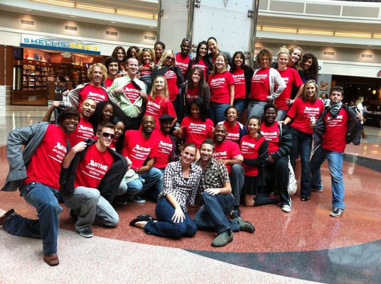
<svg viewBox="0 0 381 284"><path fill-rule="evenodd" d="M8 164L6 136L11 129L35 123L47 107L0 109L0 183ZM94 226L95 237L74 231L68 209L60 214L60 265L42 261L41 241L0 230L0 283L380 283L381 273L381 133L365 126L360 146L348 145L343 174L347 209L340 218L331 211L331 179L322 167L324 191L311 200L293 198L293 210L279 205L242 207L254 234L234 234L234 241L213 248L211 232L193 238L164 239L129 226L137 214L154 214L154 203L117 207L115 229ZM298 173L297 173L298 174ZM0 192L0 210L13 207L34 218L36 212L18 192ZM195 209L191 209L191 216Z"/></svg>

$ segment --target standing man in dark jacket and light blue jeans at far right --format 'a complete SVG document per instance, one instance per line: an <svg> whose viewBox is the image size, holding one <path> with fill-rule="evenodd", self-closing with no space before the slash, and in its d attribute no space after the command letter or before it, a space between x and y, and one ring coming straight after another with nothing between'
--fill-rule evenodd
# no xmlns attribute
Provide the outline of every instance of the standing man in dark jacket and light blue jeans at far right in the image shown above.
<svg viewBox="0 0 381 284"><path fill-rule="evenodd" d="M321 164L328 160L331 173L332 188L332 217L340 217L345 209L344 180L343 180L343 153L347 143L360 143L361 124L363 115L354 114L343 106L344 89L333 87L329 99L330 107L316 121L313 128L313 142L315 151L311 158L311 188L322 192ZM358 117L356 117L356 115ZM316 189L316 190L315 190Z"/></svg>

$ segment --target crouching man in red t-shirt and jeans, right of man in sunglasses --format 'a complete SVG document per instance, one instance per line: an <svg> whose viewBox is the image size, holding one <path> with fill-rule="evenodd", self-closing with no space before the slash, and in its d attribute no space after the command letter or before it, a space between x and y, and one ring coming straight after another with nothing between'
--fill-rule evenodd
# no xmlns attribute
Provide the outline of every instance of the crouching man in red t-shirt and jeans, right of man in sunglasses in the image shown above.
<svg viewBox="0 0 381 284"><path fill-rule="evenodd" d="M160 193L155 190L156 187L152 187L156 182L160 182L162 176L161 170L154 168L159 155L159 138L154 129L154 116L145 115L141 120L141 129L129 130L124 134L122 155L132 161L131 169L139 175L139 178L127 182L125 197L133 202L146 202L140 196L144 192L152 200L156 200Z"/></svg>

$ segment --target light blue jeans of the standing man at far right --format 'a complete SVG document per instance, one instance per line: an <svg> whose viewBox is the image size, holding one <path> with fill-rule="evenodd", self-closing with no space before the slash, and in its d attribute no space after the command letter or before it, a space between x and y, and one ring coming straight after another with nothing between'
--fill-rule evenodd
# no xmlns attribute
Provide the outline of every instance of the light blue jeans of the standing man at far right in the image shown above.
<svg viewBox="0 0 381 284"><path fill-rule="evenodd" d="M311 158L311 185L319 188L323 187L320 167L326 159L331 173L332 207L344 209L343 153L324 150L321 147L317 148Z"/></svg>

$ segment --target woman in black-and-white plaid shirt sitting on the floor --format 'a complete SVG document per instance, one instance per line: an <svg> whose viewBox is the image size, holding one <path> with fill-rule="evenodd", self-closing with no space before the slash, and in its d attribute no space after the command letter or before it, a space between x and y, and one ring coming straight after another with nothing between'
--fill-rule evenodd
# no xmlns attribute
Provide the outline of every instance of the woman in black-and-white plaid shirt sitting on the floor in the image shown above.
<svg viewBox="0 0 381 284"><path fill-rule="evenodd" d="M164 171L164 189L156 204L154 220L146 214L139 215L130 226L144 229L146 234L180 238L194 236L197 226L187 214L187 203L194 204L202 169L195 161L197 148L188 143L181 151L181 160L169 163Z"/></svg>

